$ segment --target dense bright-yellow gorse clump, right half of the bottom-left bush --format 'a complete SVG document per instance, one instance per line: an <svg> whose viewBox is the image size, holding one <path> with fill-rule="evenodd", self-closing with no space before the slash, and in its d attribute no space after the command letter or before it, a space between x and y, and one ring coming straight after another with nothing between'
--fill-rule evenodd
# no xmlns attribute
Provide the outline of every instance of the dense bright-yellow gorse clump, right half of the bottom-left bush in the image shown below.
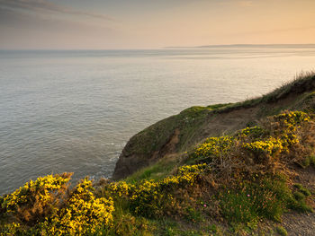
<svg viewBox="0 0 315 236"><path fill-rule="evenodd" d="M114 210L112 198L95 198L92 190L92 181L82 179L64 206L40 223L40 234L89 235L108 227Z"/></svg>

